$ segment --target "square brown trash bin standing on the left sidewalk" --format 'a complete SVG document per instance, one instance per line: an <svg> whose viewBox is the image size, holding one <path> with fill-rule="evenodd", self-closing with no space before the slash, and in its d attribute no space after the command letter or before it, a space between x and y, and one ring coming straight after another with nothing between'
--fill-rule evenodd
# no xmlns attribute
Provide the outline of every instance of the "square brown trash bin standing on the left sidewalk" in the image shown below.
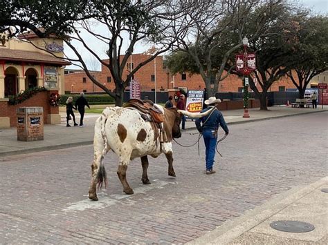
<svg viewBox="0 0 328 245"><path fill-rule="evenodd" d="M17 108L17 140L35 141L44 139L44 108Z"/></svg>

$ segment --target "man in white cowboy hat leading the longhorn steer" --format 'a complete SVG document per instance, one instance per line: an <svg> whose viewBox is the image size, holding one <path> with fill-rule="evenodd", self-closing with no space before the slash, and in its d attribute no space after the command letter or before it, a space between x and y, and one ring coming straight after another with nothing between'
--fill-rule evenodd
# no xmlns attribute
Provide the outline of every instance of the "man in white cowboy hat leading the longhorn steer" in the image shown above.
<svg viewBox="0 0 328 245"><path fill-rule="evenodd" d="M205 104L208 106L203 109L201 112L205 112L206 110L210 110L211 108L217 106L221 102L221 99L217 99L216 97L210 97L206 99ZM206 175L211 175L215 173L213 170L214 157L215 157L215 148L217 145L217 130L219 126L221 126L228 135L229 130L226 125L226 121L224 121L224 116L222 113L215 108L210 112L210 115L198 118L195 121L197 130L199 133L203 135L205 147L206 147Z"/></svg>

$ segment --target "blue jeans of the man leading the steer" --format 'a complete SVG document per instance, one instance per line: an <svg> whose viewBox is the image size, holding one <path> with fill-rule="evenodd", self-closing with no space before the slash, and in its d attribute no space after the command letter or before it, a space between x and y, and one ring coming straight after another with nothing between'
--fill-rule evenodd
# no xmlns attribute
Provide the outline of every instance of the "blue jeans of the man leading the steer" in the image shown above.
<svg viewBox="0 0 328 245"><path fill-rule="evenodd" d="M215 133L215 130L204 130L202 135L206 147L206 170L211 170L214 164L215 146L217 145L217 133Z"/></svg>

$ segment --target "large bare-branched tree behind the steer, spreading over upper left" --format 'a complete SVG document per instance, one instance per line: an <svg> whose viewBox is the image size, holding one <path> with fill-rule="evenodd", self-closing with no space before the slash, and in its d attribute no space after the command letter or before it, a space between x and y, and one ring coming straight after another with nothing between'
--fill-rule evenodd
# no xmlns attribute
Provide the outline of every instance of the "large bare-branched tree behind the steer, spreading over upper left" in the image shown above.
<svg viewBox="0 0 328 245"><path fill-rule="evenodd" d="M78 4L78 7L74 7L74 3L77 1L71 0L64 5L64 8L60 6L64 3L62 0L51 2L53 9L47 12L46 8L49 6L41 4L41 1L6 1L9 6L6 8L8 14L6 14L6 18L1 19L0 27L2 30L6 28L10 36L24 30L33 30L39 37L46 37L54 33L57 37L62 38L75 54L75 57L66 56L65 59L80 66L95 85L115 99L116 106L122 105L123 92L129 86L131 77L146 63L169 50L172 43L176 41L169 30L172 29L174 19L181 17L183 8L186 8L181 1L173 0L84 0ZM73 10L75 12L72 12ZM49 11L55 13L46 17ZM65 17L66 14L69 17ZM21 17L24 17L23 22L20 21ZM44 17L45 19L43 19ZM42 21L39 21L40 19ZM62 23L63 20L66 22ZM12 33L8 26L16 26L15 33ZM102 31L99 31L100 26ZM40 30L39 27L42 27L43 30ZM174 33L179 35L181 31L175 28ZM89 37L86 38L85 33L89 34ZM93 50L90 39L97 39L107 46L108 61L101 58L103 54ZM140 41L153 43L156 46L154 53L135 66L126 78L123 78L122 73L127 67L129 57L134 51L136 43L140 43ZM82 45L86 52L93 55L102 66L109 69L116 86L115 91L110 91L92 76L83 55L77 48L77 43ZM123 48L125 43L129 43L127 50ZM121 58L120 55L123 57Z"/></svg>

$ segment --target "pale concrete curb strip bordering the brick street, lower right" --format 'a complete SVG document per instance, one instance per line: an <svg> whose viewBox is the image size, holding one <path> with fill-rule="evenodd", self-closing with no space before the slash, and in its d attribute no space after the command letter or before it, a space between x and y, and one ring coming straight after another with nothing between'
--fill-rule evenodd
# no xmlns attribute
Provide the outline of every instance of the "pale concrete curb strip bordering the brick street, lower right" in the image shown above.
<svg viewBox="0 0 328 245"><path fill-rule="evenodd" d="M309 184L308 186L300 186L291 188L285 193L278 194L271 201L266 202L262 206L258 206L253 210L247 210L246 213L240 217L224 222L222 226L209 231L205 235L198 237L186 244L228 244L233 242L240 235L250 231L258 224L264 222L269 217L279 213L287 206L297 202L298 199L308 195L313 190L320 188L322 185L328 184L328 176L319 179L318 181Z"/></svg>

